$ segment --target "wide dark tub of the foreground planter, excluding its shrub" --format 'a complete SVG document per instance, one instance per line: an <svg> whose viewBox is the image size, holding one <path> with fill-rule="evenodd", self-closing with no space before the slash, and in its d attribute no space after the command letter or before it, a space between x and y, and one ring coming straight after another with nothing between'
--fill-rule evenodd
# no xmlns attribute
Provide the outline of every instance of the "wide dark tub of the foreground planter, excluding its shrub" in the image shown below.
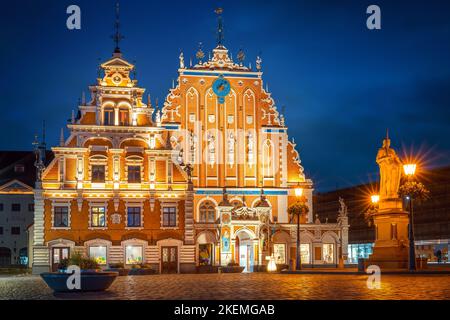
<svg viewBox="0 0 450 320"><path fill-rule="evenodd" d="M68 273L46 272L41 277L45 283L55 292L89 292L104 291L116 280L117 272L81 272L81 289L69 290L67 279Z"/></svg>

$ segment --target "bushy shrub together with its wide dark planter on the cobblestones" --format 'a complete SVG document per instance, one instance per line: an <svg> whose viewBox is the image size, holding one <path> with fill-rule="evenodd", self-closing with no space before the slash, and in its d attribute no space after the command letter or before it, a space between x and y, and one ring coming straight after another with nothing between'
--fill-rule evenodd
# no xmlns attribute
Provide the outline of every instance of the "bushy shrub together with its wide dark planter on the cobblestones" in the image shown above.
<svg viewBox="0 0 450 320"><path fill-rule="evenodd" d="M67 271L70 266L80 268L79 288L69 287L70 284L76 283L73 273ZM58 265L58 272L42 273L41 277L55 292L87 292L108 289L118 275L117 272L101 271L94 259L85 257L80 253L74 253L69 259L61 260Z"/></svg>

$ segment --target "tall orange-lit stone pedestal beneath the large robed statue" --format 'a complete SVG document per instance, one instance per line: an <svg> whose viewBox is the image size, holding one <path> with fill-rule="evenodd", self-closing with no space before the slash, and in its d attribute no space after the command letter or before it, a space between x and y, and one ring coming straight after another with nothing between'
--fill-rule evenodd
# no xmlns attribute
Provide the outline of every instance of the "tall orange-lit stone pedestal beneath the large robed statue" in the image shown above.
<svg viewBox="0 0 450 320"><path fill-rule="evenodd" d="M388 209L380 203L380 211L373 217L376 240L367 263L381 270L408 268L408 212L401 209L401 200L395 207Z"/></svg>

